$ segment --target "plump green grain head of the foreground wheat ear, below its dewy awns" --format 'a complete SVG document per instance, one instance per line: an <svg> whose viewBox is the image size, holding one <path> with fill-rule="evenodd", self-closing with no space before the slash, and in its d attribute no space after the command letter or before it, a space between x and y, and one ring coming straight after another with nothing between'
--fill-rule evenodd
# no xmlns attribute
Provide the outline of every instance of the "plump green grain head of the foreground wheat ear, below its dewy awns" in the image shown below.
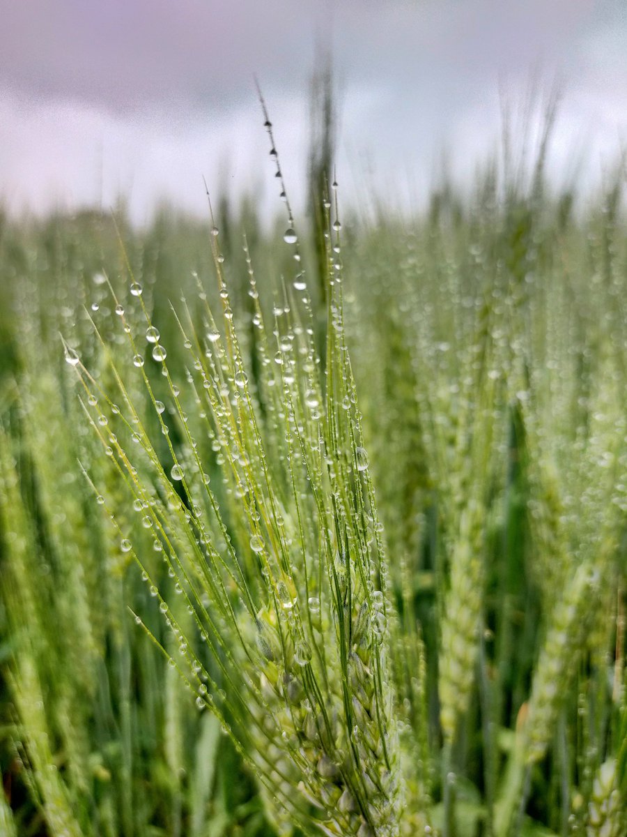
<svg viewBox="0 0 627 837"><path fill-rule="evenodd" d="M275 612L268 608L257 614L261 652L257 682L262 701L252 710L259 731L253 737L252 761L269 779L262 796L279 834L290 834L293 828L292 813L281 800L295 796L303 816L313 816L326 834L393 837L399 833L403 798L399 743L391 696L385 686L380 689L375 677L381 662L375 655L381 650L371 619L378 614L370 617L367 609L355 596L352 614L344 614L353 625L345 690L341 662L332 653L332 620L320 619L316 633L329 652L322 702L312 691L315 662L303 656L303 648L288 630L280 638ZM259 752L269 757L264 763L274 765L269 773Z"/></svg>

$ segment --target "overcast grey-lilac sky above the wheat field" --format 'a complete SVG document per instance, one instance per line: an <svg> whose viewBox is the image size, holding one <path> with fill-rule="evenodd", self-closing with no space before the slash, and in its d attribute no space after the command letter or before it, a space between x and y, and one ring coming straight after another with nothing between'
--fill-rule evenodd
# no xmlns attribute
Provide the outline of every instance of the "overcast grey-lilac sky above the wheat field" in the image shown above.
<svg viewBox="0 0 627 837"><path fill-rule="evenodd" d="M44 212L124 193L205 213L212 187L270 186L253 85L302 193L308 80L331 45L339 177L420 201L446 149L461 179L533 74L563 104L552 171L588 182L627 136L624 0L0 0L0 201ZM298 203L298 202L297 202Z"/></svg>

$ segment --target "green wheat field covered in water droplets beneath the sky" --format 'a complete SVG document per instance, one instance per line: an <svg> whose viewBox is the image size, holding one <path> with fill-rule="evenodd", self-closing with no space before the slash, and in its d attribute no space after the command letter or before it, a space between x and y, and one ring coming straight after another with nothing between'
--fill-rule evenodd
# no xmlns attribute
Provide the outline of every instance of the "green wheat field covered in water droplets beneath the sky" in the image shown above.
<svg viewBox="0 0 627 837"><path fill-rule="evenodd" d="M622 175L331 180L0 216L6 837L627 834Z"/></svg>

